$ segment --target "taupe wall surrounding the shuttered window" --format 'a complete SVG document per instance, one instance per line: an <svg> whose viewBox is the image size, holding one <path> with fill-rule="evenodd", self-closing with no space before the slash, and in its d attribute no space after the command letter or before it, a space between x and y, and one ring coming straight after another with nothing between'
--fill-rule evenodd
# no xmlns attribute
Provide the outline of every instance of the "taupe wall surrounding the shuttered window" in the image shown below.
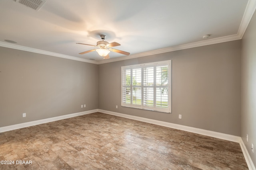
<svg viewBox="0 0 256 170"><path fill-rule="evenodd" d="M230 41L100 64L99 109L240 136L240 45ZM121 66L170 59L172 113L120 106Z"/></svg>

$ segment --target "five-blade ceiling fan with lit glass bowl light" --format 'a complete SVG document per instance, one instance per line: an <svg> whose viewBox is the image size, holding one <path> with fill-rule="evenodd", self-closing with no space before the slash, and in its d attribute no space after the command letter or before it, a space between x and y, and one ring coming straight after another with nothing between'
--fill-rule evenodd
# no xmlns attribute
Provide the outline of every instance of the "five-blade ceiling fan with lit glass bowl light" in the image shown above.
<svg viewBox="0 0 256 170"><path fill-rule="evenodd" d="M124 55L130 55L130 53L126 52L126 51L121 51L121 50L117 50L117 49L112 49L111 47L116 47L119 46L119 43L113 42L113 43L108 43L107 41L104 41L104 39L106 38L106 35L100 35L102 41L98 41L97 45L90 45L90 44L84 44L84 43L77 43L77 44L82 44L82 45L90 45L90 46L94 46L94 47L98 47L99 49L92 49L89 51L84 51L82 53L79 54L85 54L85 53L90 53L92 51L96 51L100 56L104 57L104 59L109 59L109 55L108 53L110 53L110 51L113 51L115 53L120 53L120 54L124 54Z"/></svg>

